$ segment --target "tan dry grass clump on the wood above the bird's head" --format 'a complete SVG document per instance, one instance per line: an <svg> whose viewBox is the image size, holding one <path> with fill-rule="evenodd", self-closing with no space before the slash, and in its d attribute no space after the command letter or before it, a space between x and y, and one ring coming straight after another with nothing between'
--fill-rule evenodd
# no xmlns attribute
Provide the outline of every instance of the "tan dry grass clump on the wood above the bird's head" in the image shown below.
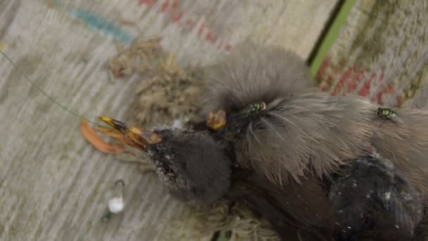
<svg viewBox="0 0 428 241"><path fill-rule="evenodd" d="M178 66L175 56L163 51L160 40L137 40L108 62L116 77L143 76L130 113L140 126L192 119L200 109L201 78L196 78L195 70Z"/></svg>

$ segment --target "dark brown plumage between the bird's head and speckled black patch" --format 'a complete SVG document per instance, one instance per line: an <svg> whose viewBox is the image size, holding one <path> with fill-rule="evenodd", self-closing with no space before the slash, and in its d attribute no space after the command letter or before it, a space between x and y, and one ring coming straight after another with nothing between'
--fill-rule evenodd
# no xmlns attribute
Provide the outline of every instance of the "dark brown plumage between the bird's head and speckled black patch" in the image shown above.
<svg viewBox="0 0 428 241"><path fill-rule="evenodd" d="M326 186L317 178L289 183L284 191L263 175L237 168L225 197L270 221L282 240L332 240L336 219Z"/></svg>

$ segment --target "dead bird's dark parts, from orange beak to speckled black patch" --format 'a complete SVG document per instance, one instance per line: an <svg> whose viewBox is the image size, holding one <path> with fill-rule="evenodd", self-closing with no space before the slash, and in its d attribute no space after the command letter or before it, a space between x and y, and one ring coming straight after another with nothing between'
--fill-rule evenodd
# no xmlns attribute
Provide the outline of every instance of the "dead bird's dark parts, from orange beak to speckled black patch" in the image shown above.
<svg viewBox="0 0 428 241"><path fill-rule="evenodd" d="M270 221L282 240L359 240L377 237L376 230L384 238L376 240L410 240L422 219L422 194L370 156L349 160L330 178L306 173L300 183L279 187L236 166L234 150L224 146L228 140L219 142L208 132L146 131L102 120L113 129L99 130L141 150L174 197L197 204L242 202Z"/></svg>

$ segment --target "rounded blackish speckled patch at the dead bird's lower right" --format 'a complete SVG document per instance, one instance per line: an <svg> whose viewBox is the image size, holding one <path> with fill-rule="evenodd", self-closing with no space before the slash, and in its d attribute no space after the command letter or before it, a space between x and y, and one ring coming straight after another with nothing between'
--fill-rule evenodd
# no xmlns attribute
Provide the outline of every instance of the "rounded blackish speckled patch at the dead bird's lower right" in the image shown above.
<svg viewBox="0 0 428 241"><path fill-rule="evenodd" d="M411 240L422 221L422 195L379 159L355 159L329 190L339 240Z"/></svg>

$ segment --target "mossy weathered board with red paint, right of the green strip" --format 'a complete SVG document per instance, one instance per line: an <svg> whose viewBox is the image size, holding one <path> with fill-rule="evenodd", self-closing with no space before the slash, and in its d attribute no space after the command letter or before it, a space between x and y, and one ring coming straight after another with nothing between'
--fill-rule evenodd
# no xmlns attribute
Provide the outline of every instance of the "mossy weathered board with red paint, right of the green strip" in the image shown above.
<svg viewBox="0 0 428 241"><path fill-rule="evenodd" d="M428 1L358 0L317 75L332 94L428 104Z"/></svg>

